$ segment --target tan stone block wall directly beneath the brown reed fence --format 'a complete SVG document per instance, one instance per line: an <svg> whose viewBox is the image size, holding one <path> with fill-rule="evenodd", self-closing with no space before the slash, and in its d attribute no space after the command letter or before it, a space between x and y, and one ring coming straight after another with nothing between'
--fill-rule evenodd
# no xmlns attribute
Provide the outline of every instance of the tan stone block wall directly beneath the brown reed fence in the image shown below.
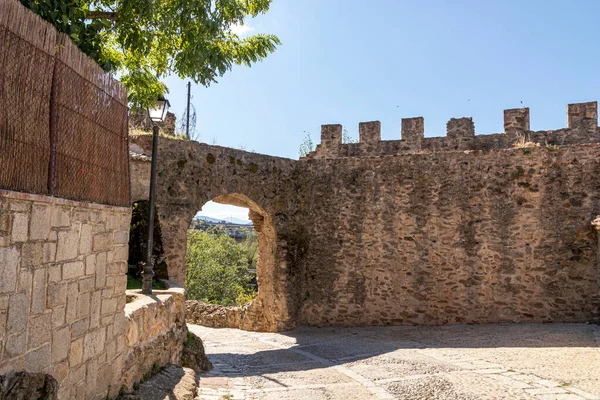
<svg viewBox="0 0 600 400"><path fill-rule="evenodd" d="M130 214L0 190L0 374L48 373L61 399L119 391Z"/></svg>

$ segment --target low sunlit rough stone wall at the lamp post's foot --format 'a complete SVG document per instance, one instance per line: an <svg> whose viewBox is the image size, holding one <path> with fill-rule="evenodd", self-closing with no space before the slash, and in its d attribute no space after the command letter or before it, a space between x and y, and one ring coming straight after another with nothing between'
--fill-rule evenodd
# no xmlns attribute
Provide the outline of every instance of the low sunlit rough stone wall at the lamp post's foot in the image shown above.
<svg viewBox="0 0 600 400"><path fill-rule="evenodd" d="M184 290L166 282L168 290L152 296L127 291L125 306L123 385L133 385L167 364L179 364L186 340Z"/></svg>

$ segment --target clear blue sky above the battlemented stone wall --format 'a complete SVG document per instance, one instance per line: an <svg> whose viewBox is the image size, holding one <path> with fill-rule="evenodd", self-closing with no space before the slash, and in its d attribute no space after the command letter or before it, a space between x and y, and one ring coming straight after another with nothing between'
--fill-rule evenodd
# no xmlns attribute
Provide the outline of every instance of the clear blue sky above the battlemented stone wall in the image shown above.
<svg viewBox="0 0 600 400"><path fill-rule="evenodd" d="M277 34L279 49L192 86L200 140L297 158L321 124L357 137L379 120L398 139L403 117L425 117L426 136L473 117L494 133L521 101L533 130L561 128L568 103L600 98L598 15L597 0L274 0L245 28ZM166 83L181 115L186 81Z"/></svg>

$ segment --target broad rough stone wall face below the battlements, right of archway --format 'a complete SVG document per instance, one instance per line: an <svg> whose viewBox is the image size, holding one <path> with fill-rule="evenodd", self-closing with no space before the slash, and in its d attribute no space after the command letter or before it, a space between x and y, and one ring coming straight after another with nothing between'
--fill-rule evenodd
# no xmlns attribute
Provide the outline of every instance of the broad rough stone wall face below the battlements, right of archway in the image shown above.
<svg viewBox="0 0 600 400"><path fill-rule="evenodd" d="M598 144L313 160L302 171L301 324L598 315Z"/></svg>

